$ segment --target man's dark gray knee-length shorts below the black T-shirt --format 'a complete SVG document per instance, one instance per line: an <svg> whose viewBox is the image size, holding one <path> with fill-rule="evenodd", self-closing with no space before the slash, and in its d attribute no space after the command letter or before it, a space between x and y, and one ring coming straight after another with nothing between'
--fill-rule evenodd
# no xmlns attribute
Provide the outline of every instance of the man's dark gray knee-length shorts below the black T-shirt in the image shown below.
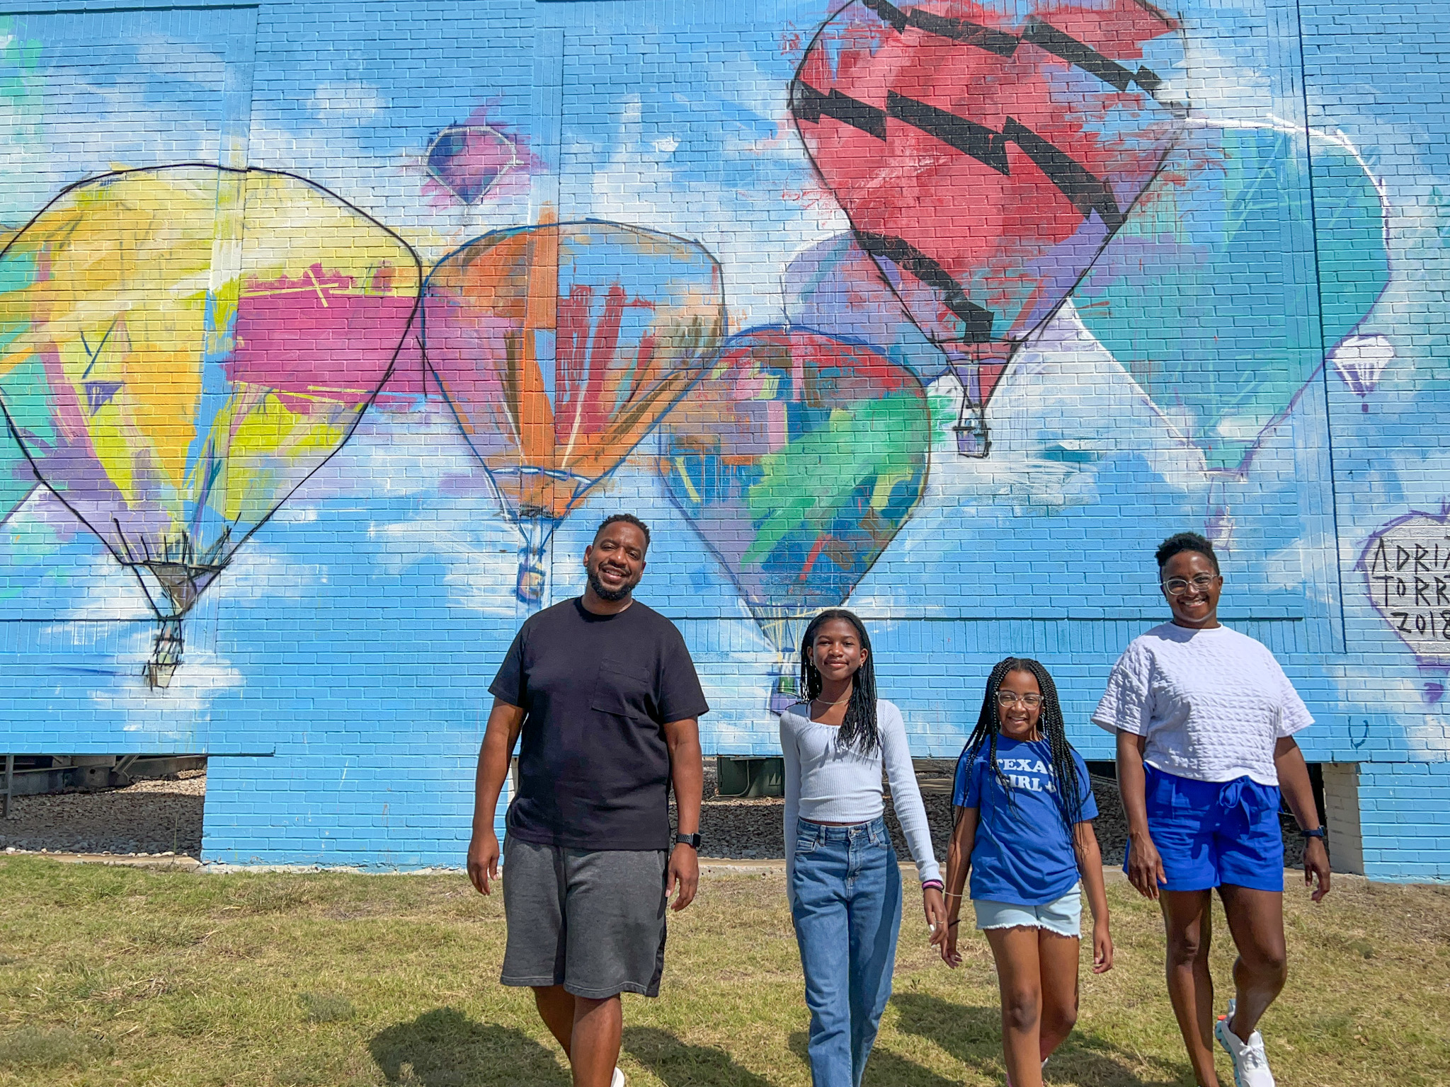
<svg viewBox="0 0 1450 1087"><path fill-rule="evenodd" d="M664 849L563 849L503 844L506 986L563 986L605 1000L660 996Z"/></svg>

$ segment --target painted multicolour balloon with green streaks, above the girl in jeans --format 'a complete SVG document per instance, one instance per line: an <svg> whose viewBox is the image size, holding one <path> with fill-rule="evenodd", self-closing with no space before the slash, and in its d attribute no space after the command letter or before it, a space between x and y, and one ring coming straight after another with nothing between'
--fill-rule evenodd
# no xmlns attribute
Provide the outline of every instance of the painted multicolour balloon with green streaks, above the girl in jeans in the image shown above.
<svg viewBox="0 0 1450 1087"><path fill-rule="evenodd" d="M927 481L931 412L911 371L803 329L731 338L661 423L660 474L780 655L770 709L796 700L796 644L844 603Z"/></svg>

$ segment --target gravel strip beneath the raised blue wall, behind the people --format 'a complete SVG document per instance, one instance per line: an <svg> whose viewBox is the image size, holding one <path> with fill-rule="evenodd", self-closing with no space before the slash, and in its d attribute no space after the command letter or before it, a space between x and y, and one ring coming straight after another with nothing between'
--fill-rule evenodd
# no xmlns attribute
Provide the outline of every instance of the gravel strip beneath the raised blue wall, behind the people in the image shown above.
<svg viewBox="0 0 1450 1087"><path fill-rule="evenodd" d="M918 775L937 859L947 857L951 835L951 777L940 770ZM1122 864L1128 823L1112 781L1093 778L1099 815L1093 822L1102 861ZM188 770L171 778L138 781L102 793L59 793L16 797L12 817L0 820L0 849L123 855L202 855L202 804L206 771ZM708 859L779 859L786 855L784 800L737 800L716 793L713 759L706 759L705 803L700 807L700 857ZM896 852L911 857L896 825L890 799L886 822ZM1282 816L1285 865L1302 864L1304 844L1293 819Z"/></svg>

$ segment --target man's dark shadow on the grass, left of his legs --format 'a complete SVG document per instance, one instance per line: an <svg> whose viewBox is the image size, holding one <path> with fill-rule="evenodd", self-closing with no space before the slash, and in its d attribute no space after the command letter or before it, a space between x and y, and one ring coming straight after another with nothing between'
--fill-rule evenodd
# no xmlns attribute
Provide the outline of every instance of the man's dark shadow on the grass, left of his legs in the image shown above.
<svg viewBox="0 0 1450 1087"><path fill-rule="evenodd" d="M568 1074L522 1030L436 1007L373 1035L368 1052L389 1083L418 1087L568 1087Z"/></svg>

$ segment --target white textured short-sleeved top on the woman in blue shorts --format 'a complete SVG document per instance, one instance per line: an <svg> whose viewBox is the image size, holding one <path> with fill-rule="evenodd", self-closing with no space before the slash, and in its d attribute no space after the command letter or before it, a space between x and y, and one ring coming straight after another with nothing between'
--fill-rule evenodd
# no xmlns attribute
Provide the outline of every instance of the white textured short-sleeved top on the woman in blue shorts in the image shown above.
<svg viewBox="0 0 1450 1087"><path fill-rule="evenodd" d="M1248 635L1174 623L1134 638L1092 719L1147 736L1144 761L1198 781L1277 786L1275 744L1314 723L1273 654Z"/></svg>

